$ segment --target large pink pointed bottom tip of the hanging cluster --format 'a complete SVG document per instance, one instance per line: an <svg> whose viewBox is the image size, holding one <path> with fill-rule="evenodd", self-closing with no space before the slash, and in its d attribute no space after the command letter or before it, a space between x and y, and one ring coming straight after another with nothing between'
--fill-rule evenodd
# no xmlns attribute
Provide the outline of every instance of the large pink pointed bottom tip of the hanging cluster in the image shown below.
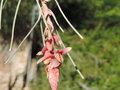
<svg viewBox="0 0 120 90"><path fill-rule="evenodd" d="M52 90L58 90L59 69L58 68L49 69L47 75Z"/></svg>

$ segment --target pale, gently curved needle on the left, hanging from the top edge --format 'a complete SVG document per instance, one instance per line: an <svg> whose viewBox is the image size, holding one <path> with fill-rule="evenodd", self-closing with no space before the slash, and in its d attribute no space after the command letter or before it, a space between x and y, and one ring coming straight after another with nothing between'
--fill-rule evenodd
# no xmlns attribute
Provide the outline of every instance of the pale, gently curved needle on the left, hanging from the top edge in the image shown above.
<svg viewBox="0 0 120 90"><path fill-rule="evenodd" d="M10 42L9 51L11 51L12 45L13 45L14 31L15 31L15 23L16 23L16 18L17 18L17 14L18 14L19 7L20 7L20 3L21 3L21 0L18 1L18 5L17 5L16 11L15 11L15 16L14 16L13 25L12 25L12 36L11 36L11 42Z"/></svg>

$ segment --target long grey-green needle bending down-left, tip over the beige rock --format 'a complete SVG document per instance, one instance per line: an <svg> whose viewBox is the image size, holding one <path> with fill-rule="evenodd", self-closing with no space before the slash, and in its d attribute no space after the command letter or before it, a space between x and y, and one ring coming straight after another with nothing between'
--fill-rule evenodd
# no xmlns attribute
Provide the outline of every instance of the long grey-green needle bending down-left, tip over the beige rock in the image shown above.
<svg viewBox="0 0 120 90"><path fill-rule="evenodd" d="M37 1L37 5L40 8L39 2ZM24 41L27 39L27 37L32 33L32 31L34 30L34 28L36 27L36 25L38 24L38 22L40 21L41 18L41 9L39 9L39 16L37 21L35 22L35 24L33 25L33 27L30 29L30 31L28 32L28 34L25 36L25 38L22 40L22 42L19 44L18 48L14 51L14 53L6 60L5 64L7 64L8 62L10 63L12 61L12 57L17 53L17 51L19 50L19 48L21 47L21 45L24 43Z"/></svg>

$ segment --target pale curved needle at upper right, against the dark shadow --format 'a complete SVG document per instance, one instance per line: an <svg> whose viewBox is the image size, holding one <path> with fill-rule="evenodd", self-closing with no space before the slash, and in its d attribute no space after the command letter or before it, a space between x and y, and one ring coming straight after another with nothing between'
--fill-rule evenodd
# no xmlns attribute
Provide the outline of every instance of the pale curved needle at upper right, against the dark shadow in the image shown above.
<svg viewBox="0 0 120 90"><path fill-rule="evenodd" d="M74 30L74 32L81 38L83 39L83 36L74 28L74 26L70 23L70 21L67 19L67 17L65 16L65 14L63 13L59 3L57 0L55 0L57 6L58 6L58 9L60 10L61 14L63 15L64 19L67 21L67 23L70 25L70 27Z"/></svg>

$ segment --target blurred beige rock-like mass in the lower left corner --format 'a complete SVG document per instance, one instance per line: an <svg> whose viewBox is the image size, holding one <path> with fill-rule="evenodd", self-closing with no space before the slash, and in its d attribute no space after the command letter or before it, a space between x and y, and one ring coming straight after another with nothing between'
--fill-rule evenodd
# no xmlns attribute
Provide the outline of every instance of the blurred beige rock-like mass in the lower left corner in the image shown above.
<svg viewBox="0 0 120 90"><path fill-rule="evenodd" d="M14 43L12 50L14 51L17 46ZM25 41L19 52L12 58L12 62L4 64L4 60L13 52L8 51L8 42L0 37L0 90L22 90L24 88L29 49L29 42Z"/></svg>

